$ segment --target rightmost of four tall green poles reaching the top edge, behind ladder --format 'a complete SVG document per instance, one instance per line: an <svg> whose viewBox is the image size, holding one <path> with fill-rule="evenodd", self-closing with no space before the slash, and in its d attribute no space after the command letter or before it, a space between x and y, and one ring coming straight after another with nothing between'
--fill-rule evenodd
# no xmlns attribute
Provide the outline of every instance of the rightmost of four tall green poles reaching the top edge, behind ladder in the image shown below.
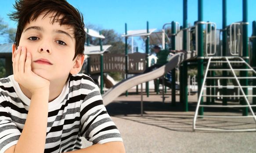
<svg viewBox="0 0 256 153"><path fill-rule="evenodd" d="M249 62L248 60L248 0L243 0L243 58L246 63ZM243 64L243 69L247 69L247 66ZM242 77L248 77L248 71L242 71ZM248 86L248 79L243 79L242 86ZM248 88L245 87L244 89L245 95L248 95ZM246 104L245 100L243 99L243 103ZM243 109L243 116L248 115L248 107Z"/></svg>

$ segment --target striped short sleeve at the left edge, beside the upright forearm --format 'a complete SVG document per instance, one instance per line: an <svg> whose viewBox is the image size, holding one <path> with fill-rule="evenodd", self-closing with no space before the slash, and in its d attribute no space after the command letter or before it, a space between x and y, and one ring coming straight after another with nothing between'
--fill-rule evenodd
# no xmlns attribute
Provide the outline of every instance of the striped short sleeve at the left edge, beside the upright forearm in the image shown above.
<svg viewBox="0 0 256 153"><path fill-rule="evenodd" d="M4 153L8 148L18 143L21 132L11 120L10 102L0 97L0 153Z"/></svg>

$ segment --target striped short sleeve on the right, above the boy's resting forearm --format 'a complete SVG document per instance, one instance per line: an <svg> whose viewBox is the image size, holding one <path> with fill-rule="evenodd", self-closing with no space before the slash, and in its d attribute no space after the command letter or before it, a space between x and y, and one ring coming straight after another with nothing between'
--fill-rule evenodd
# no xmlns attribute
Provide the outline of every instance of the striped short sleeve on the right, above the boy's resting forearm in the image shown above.
<svg viewBox="0 0 256 153"><path fill-rule="evenodd" d="M81 136L93 144L123 141L115 123L103 105L101 93L96 84L87 94L80 108Z"/></svg>

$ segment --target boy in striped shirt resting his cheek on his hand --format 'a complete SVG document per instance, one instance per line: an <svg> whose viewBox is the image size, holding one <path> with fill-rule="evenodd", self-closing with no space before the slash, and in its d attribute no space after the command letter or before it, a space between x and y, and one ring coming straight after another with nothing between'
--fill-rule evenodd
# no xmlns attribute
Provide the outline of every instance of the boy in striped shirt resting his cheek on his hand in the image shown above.
<svg viewBox="0 0 256 153"><path fill-rule="evenodd" d="M14 75L0 79L0 153L125 152L97 85L78 74L83 16L66 0L14 7ZM82 136L94 145L81 149Z"/></svg>

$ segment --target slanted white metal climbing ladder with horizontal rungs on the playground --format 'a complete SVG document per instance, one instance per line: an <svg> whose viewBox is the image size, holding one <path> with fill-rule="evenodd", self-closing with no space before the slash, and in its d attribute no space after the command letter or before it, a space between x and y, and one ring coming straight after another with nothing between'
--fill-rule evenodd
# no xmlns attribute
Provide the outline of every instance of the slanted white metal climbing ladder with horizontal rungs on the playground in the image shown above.
<svg viewBox="0 0 256 153"><path fill-rule="evenodd" d="M209 68L211 64L222 64L222 63L227 63L228 68L224 68L224 69L218 69L218 68ZM233 66L236 64L245 64L247 66L247 69L234 69ZM233 66L232 66L233 65ZM227 77L209 77L208 73L210 71L229 71L231 72L231 74L233 76L227 76ZM232 131L232 132L242 132L242 131L256 131L256 128L247 128L247 129L224 129L224 128L216 128L216 127L209 127L209 126L205 126L204 128L201 127L196 127L196 122L198 118L253 118L254 121L256 122L256 116L252 110L252 107L256 107L256 104L250 104L248 97L256 97L256 95L245 95L245 92L243 90L243 88L248 88L248 87L254 87L254 86L241 86L240 82L238 79L256 79L256 77L240 77L237 76L236 73L234 71L252 71L252 73L256 74L256 71L252 69L251 66L249 66L248 63L246 63L244 61L244 59L242 59L241 57L209 57L209 61L207 64L207 68L206 68L206 73L204 76L204 80L202 83L202 89L200 91L199 94L199 98L198 98L198 104L196 107L196 111L195 111L195 116L194 116L194 121L193 121L193 131L195 130L208 130L208 131ZM207 79L235 79L236 81L236 85L234 85L234 88L238 88L240 90L240 92L242 93L241 95L224 95L225 93L222 93L222 95L207 95L207 94L203 94L203 90L204 88L227 88L228 86L206 86L206 80ZM230 86L229 86L230 87ZM256 87L256 86L255 86ZM239 92L238 92L239 93ZM241 97L244 98L245 100L245 104L227 104L227 105L222 105L222 103L215 103L215 104L201 104L201 99L203 97ZM207 108L245 108L248 107L249 111L251 113L251 115L248 116L220 116L220 115L198 115L198 110L199 108L202 107L207 107ZM199 126L199 125L198 125ZM202 126L202 125L200 125Z"/></svg>

